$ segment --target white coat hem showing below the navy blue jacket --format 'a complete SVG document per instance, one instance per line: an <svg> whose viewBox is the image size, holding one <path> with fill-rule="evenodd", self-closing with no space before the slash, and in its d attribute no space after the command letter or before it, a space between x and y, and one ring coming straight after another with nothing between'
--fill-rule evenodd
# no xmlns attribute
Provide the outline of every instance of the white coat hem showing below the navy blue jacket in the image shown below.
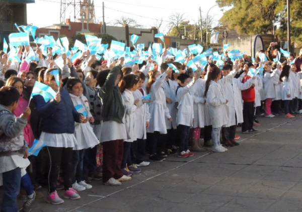
<svg viewBox="0 0 302 212"><path fill-rule="evenodd" d="M68 133L54 134L42 132L39 140L48 147L68 148L78 145L77 139L75 139L74 135Z"/></svg>

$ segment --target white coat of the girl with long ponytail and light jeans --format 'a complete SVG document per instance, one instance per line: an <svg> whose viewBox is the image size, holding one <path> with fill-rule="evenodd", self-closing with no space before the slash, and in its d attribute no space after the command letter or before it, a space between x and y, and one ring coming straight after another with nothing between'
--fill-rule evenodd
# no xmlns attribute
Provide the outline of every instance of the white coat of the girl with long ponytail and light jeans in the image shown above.
<svg viewBox="0 0 302 212"><path fill-rule="evenodd" d="M226 84L231 83L236 73L236 70L233 70L229 75L219 79L217 82L210 81L206 94L206 105L208 107L210 125L213 128L222 127L229 122L229 109L223 90Z"/></svg>

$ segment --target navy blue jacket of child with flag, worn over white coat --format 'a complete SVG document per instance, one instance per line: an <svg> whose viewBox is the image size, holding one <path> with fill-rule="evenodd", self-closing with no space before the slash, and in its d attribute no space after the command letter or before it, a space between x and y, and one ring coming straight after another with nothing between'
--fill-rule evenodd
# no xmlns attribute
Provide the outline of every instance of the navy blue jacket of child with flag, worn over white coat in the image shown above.
<svg viewBox="0 0 302 212"><path fill-rule="evenodd" d="M60 102L50 100L46 103L41 95L37 95L35 99L36 109L42 118L41 131L53 134L73 134L74 122L80 122L81 114L75 110L68 91L63 88L60 92Z"/></svg>

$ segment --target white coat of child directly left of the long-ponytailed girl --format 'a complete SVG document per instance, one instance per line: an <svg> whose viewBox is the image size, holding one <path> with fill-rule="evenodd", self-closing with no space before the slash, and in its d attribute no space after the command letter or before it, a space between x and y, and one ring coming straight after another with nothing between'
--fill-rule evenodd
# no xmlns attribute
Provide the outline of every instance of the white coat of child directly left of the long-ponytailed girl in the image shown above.
<svg viewBox="0 0 302 212"><path fill-rule="evenodd" d="M193 128L204 128L205 125L205 112L204 112L204 90L205 90L205 80L197 79L195 85L192 87L190 93L193 98L193 108L194 108L194 119Z"/></svg>

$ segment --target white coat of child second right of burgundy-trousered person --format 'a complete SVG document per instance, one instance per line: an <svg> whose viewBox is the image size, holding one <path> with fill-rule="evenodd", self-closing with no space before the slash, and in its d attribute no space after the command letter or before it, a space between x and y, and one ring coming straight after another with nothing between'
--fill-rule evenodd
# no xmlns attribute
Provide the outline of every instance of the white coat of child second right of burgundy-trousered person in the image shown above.
<svg viewBox="0 0 302 212"><path fill-rule="evenodd" d="M142 96L146 95L144 90L143 94L137 89L133 91L134 99L141 99ZM134 111L135 117L135 130L137 139L146 139L146 122L150 121L149 105L144 103L141 107Z"/></svg>

